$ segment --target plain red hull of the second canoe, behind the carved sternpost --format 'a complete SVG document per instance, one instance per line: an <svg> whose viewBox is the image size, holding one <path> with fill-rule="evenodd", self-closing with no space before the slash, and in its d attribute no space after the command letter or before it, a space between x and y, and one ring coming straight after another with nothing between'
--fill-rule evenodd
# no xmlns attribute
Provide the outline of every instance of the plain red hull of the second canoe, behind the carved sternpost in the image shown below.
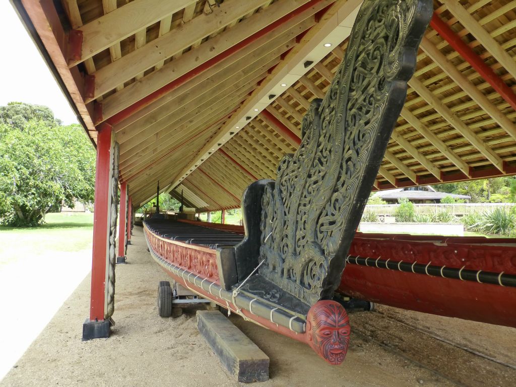
<svg viewBox="0 0 516 387"><path fill-rule="evenodd" d="M241 226L190 222L244 233ZM349 253L516 275L514 239L357 233ZM338 292L393 307L516 328L516 289L347 264Z"/></svg>

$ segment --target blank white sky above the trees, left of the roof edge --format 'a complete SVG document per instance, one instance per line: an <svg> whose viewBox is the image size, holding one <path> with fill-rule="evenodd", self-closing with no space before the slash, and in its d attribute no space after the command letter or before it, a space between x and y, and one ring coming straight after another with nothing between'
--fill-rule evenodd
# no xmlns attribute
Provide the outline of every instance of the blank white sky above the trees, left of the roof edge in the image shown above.
<svg viewBox="0 0 516 387"><path fill-rule="evenodd" d="M8 102L46 105L65 124L75 114L11 3L0 0L0 106Z"/></svg>

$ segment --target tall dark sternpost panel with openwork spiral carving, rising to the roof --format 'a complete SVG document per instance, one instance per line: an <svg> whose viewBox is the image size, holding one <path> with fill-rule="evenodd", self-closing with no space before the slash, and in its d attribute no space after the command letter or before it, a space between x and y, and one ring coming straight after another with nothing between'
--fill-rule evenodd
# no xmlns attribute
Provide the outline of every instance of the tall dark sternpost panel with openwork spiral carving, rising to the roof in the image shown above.
<svg viewBox="0 0 516 387"><path fill-rule="evenodd" d="M324 100L262 197L260 274L309 305L332 297L413 75L431 0L365 0Z"/></svg>

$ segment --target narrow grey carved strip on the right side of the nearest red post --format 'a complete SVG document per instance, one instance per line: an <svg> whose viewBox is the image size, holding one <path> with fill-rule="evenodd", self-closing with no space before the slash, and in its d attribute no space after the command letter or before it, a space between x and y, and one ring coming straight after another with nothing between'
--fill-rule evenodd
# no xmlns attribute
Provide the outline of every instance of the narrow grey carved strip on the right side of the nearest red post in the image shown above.
<svg viewBox="0 0 516 387"><path fill-rule="evenodd" d="M115 267L117 263L117 215L118 215L118 160L120 147L114 142L111 152L110 198L109 198L109 252L106 262L106 305L104 319L108 319L115 312ZM122 236L123 237L123 236Z"/></svg>

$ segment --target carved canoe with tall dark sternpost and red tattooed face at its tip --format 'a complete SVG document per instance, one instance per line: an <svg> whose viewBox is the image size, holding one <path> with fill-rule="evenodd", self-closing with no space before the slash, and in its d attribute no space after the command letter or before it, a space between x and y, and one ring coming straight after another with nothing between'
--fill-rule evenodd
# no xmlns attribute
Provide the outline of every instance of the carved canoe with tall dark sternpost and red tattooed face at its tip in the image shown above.
<svg viewBox="0 0 516 387"><path fill-rule="evenodd" d="M349 320L331 299L432 12L431 0L365 0L325 99L303 119L299 149L276 181L244 192L244 239L215 251L189 245L200 236L174 240L181 225L146 221L156 261L203 297L342 363Z"/></svg>

